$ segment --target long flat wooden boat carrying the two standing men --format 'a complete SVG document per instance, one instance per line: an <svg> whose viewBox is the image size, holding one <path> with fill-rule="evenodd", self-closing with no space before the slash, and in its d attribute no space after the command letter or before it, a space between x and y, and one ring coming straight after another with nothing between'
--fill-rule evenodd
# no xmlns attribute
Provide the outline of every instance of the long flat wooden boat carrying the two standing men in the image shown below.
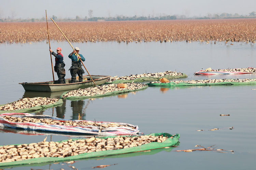
<svg viewBox="0 0 256 170"><path fill-rule="evenodd" d="M66 79L66 84L57 84L58 80L56 81L49 81L49 82L37 82L37 83L19 83L23 86L25 91L69 91L79 88L88 88L95 86L93 81L90 79L89 75L84 75L83 78L87 78L86 81L79 82L78 80L75 83L71 83L71 78ZM96 85L101 85L106 82L110 76L108 75L91 75Z"/></svg>

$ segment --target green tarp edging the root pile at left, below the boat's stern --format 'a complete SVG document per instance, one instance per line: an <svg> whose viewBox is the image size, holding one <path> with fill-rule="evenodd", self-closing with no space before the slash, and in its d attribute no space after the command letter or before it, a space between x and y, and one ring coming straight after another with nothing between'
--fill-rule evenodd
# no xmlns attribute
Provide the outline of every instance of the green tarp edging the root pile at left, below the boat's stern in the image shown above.
<svg viewBox="0 0 256 170"><path fill-rule="evenodd" d="M15 101L14 101L15 102ZM12 102L13 103L13 102ZM11 104L11 103L8 103ZM62 99L59 99L56 103L54 104L47 104L47 105L41 105L41 106L34 106L34 107L30 107L30 108L23 108L23 109L18 109L18 110L13 110L13 111L0 111L0 114L2 113L34 113L34 112L40 112L43 111L47 108L51 108L51 107L57 107L57 106L61 106L63 104ZM0 106L3 106L5 104L2 104Z"/></svg>

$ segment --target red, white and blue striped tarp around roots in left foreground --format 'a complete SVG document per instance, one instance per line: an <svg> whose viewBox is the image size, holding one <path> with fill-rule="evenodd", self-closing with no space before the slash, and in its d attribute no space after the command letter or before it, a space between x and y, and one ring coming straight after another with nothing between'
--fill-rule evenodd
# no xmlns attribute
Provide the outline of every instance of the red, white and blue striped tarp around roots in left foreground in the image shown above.
<svg viewBox="0 0 256 170"><path fill-rule="evenodd" d="M131 135L138 134L139 127L137 125L132 125L128 123L119 123L119 122L96 122L102 124L110 124L115 123L118 125L124 125L120 127L109 127L103 128L101 132L99 132L99 126L87 125L87 126L66 126L59 124L46 124L46 123L33 123L33 122L10 122L9 120L4 119L2 116L12 116L12 117L32 117L37 119L52 119L57 121L68 121L66 119L61 119L53 116L47 115L32 115L28 113L3 113L0 115L0 126L9 127L9 128L17 128L17 129L25 129L25 130L33 130L33 131L45 131L45 132L57 132L57 133L75 133L75 134L83 134L83 135L98 135L98 136L115 136L115 135ZM86 121L87 120L73 120L76 122ZM92 122L93 121L89 121ZM127 127L127 126L128 127ZM133 129L134 128L134 129Z"/></svg>

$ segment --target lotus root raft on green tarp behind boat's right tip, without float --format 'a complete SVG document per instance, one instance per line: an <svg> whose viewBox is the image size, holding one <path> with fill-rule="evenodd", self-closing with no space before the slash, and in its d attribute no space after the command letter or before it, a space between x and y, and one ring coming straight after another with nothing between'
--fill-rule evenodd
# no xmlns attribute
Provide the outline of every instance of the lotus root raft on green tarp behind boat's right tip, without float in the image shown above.
<svg viewBox="0 0 256 170"><path fill-rule="evenodd" d="M187 75L184 73L176 72L176 71L165 71L160 73L143 73L129 76L114 76L110 77L105 84L118 84L118 83L136 83L136 82L145 82L145 81L158 81L161 78L166 79L178 79L178 78L187 78Z"/></svg>

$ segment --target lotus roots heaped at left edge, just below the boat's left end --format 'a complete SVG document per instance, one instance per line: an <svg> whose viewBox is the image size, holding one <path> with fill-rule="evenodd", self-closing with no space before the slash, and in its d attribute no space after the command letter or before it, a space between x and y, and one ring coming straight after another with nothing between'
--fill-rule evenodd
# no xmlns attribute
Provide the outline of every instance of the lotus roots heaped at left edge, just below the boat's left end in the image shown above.
<svg viewBox="0 0 256 170"><path fill-rule="evenodd" d="M24 98L20 99L18 101L15 101L10 104L5 104L3 106L0 106L0 111L13 111L13 110L19 110L24 108L30 108L34 106L41 106L41 105L48 105L48 104L54 104L59 99L51 99L46 97L39 97L39 98Z"/></svg>

